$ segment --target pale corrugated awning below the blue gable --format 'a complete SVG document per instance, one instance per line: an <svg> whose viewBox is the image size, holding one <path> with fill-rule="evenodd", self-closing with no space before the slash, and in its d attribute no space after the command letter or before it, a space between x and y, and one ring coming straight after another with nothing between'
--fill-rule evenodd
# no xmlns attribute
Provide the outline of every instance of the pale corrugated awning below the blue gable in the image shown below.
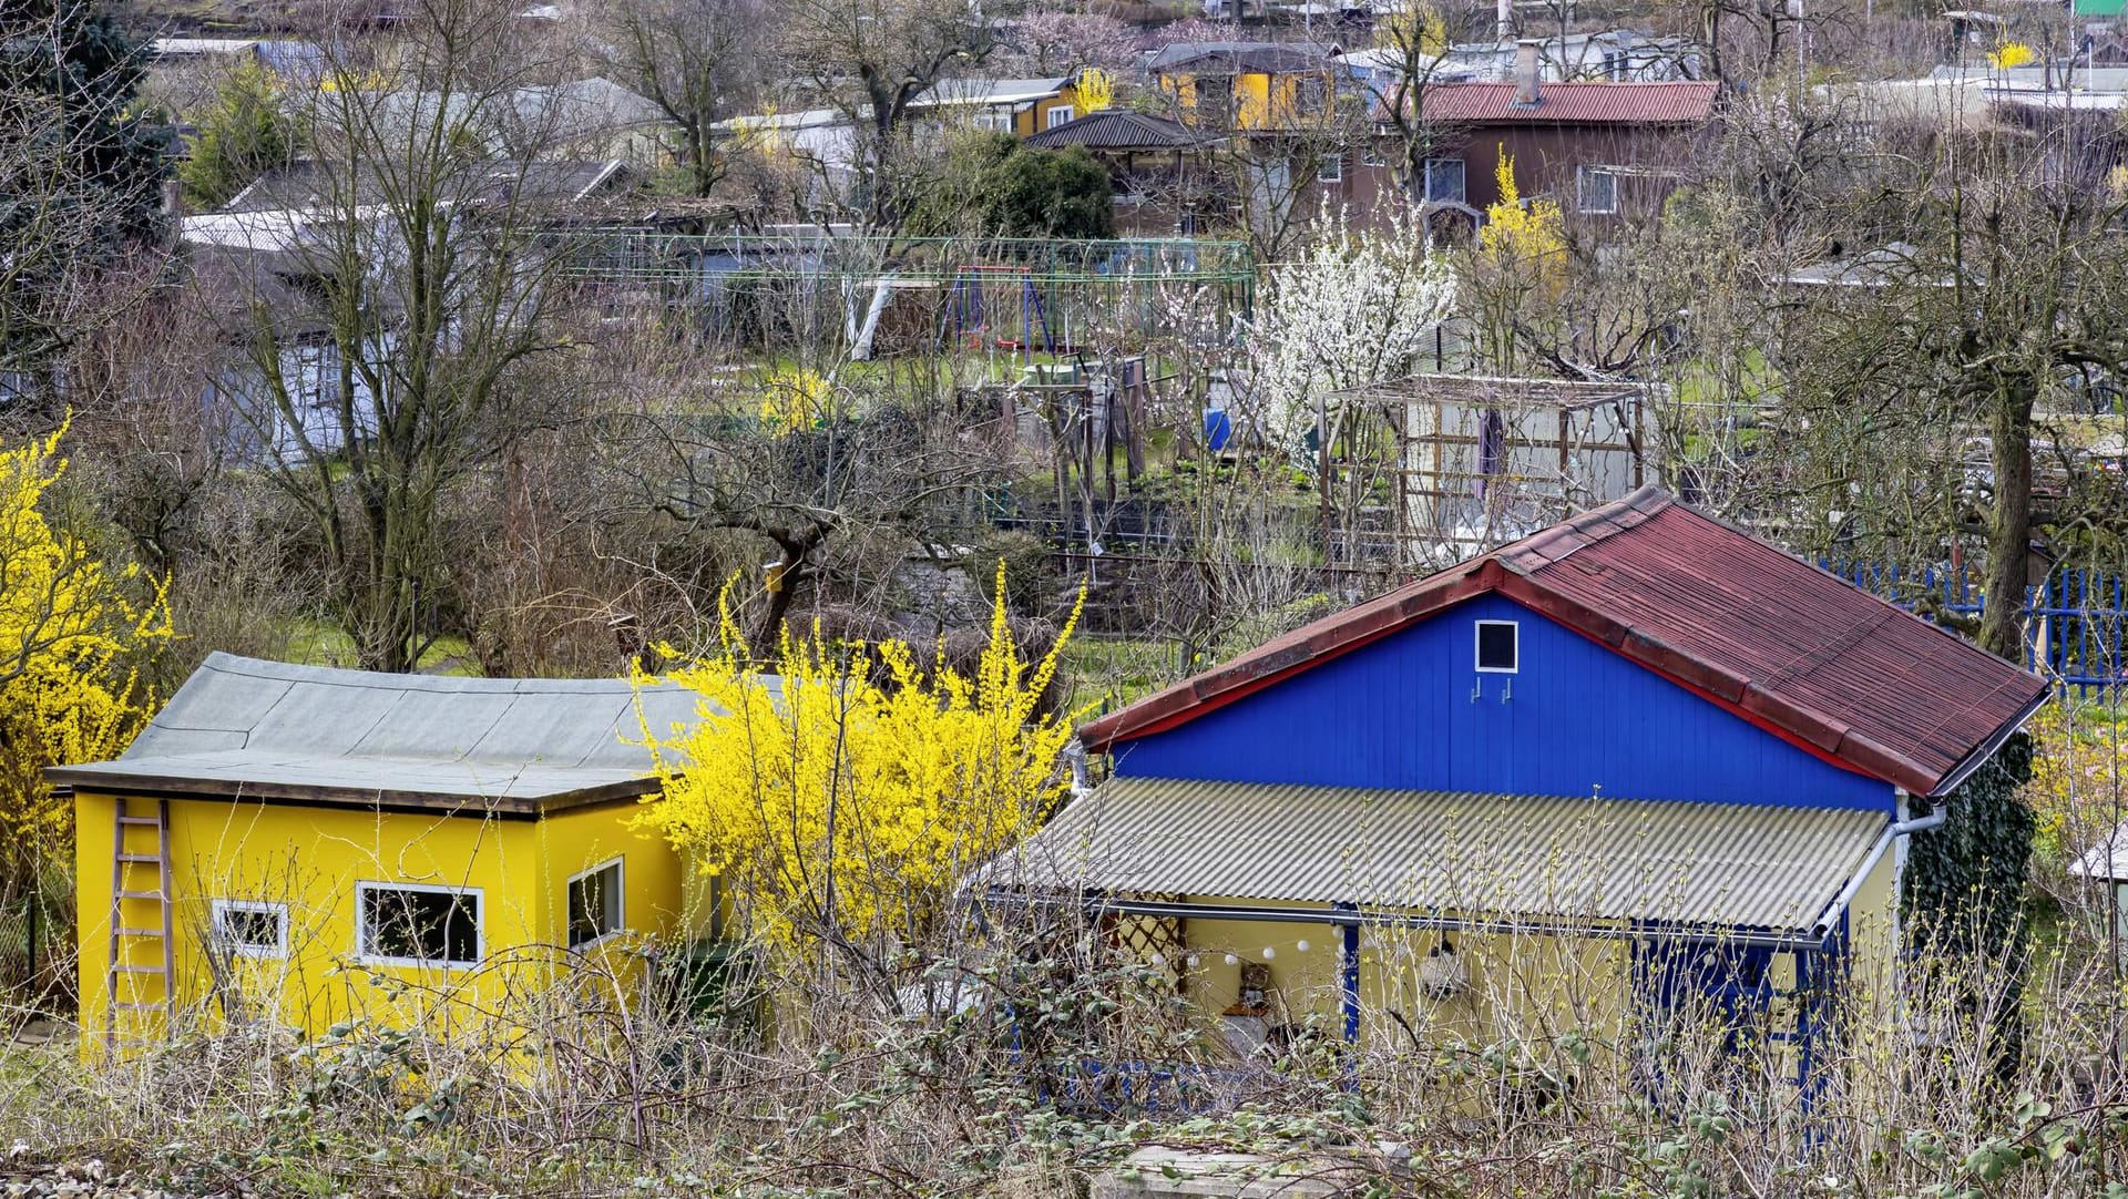
<svg viewBox="0 0 2128 1199"><path fill-rule="evenodd" d="M1811 933L1890 816L1113 778L990 886Z"/></svg>

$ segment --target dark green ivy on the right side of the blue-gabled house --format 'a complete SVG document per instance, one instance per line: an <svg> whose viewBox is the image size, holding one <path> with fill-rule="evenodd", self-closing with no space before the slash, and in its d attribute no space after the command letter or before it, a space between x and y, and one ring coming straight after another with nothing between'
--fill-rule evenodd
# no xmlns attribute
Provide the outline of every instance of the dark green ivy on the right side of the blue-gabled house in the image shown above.
<svg viewBox="0 0 2128 1199"><path fill-rule="evenodd" d="M1945 825L1911 838L1898 897L1909 959L1954 986L1962 1012L1977 1014L1990 995L2007 999L1990 1012L2005 1080L2024 1050L2015 997L2024 991L2034 818L2019 787L2030 778L2032 738L2015 733L1949 795Z"/></svg>

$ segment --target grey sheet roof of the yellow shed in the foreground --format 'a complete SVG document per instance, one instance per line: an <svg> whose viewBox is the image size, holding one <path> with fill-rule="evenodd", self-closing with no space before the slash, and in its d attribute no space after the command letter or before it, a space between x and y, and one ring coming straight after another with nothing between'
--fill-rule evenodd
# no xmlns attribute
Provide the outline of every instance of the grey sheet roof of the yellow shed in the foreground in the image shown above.
<svg viewBox="0 0 2128 1199"><path fill-rule="evenodd" d="M443 678L209 655L117 761L57 787L534 814L655 789L626 678ZM698 719L641 691L653 731Z"/></svg>

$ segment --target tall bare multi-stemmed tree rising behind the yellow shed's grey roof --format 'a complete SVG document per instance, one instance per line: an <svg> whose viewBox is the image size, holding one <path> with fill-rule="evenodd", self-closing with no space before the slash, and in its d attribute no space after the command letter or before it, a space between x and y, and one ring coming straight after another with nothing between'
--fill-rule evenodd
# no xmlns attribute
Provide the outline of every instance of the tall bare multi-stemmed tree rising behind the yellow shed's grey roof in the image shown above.
<svg viewBox="0 0 2128 1199"><path fill-rule="evenodd" d="M245 247L202 264L243 302L226 381L255 461L317 529L332 608L372 670L411 670L449 589L451 495L528 425L517 387L545 349L558 255L538 198L560 164L496 162L532 64L506 9L428 0L389 43L332 45L309 113L317 159L285 208L234 217ZM275 240L279 238L279 240Z"/></svg>

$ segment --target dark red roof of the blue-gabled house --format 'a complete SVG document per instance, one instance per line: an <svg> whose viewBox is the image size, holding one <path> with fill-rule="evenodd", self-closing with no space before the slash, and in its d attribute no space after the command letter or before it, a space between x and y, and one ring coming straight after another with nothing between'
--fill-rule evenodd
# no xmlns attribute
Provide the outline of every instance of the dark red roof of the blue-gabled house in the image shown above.
<svg viewBox="0 0 2128 1199"><path fill-rule="evenodd" d="M1294 629L1079 729L1166 731L1496 591L1858 774L1941 795L2047 685L1843 578L1643 487Z"/></svg>

